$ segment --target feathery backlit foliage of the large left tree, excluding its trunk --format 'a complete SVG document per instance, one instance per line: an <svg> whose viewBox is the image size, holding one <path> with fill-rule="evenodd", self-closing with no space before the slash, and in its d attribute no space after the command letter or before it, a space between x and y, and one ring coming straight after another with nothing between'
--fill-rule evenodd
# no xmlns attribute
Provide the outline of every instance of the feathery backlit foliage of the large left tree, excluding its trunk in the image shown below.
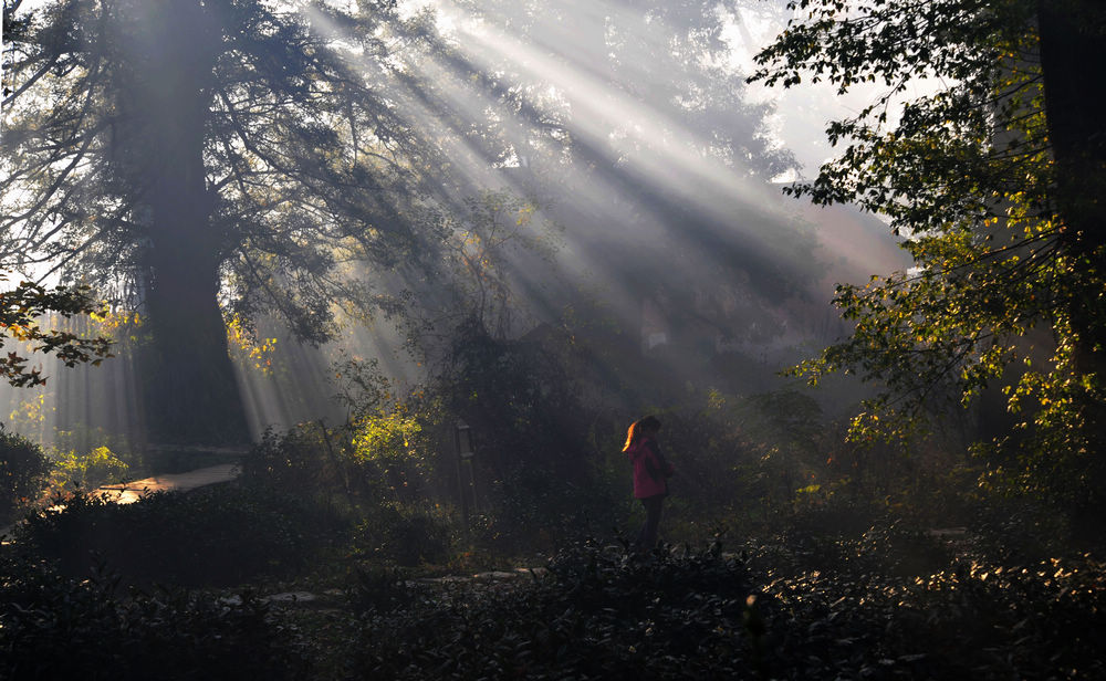
<svg viewBox="0 0 1106 681"><path fill-rule="evenodd" d="M23 247L25 258L35 250L49 258L74 250L79 260L71 264L101 280L116 277L125 294L122 284L133 286L145 276L142 266L136 269L145 249L161 248L173 238L163 233L171 229L168 223L158 224L161 198L139 200L138 195L160 190L161 181L181 181L155 171L170 158L205 153L206 169L218 175L206 191L217 196L204 202L207 223L194 237L197 245L216 248L208 256L233 271L228 293L239 318L271 310L299 335L325 337L325 319L315 317L328 317L322 305L335 292L327 286L341 287L322 277L335 266L330 249L389 258L396 254L393 247L404 248L398 216L354 196L364 197L366 187L392 193L414 169L400 158L405 150L415 151L417 135L375 90L375 81L394 75L384 60L395 55L368 38L401 32L401 22L387 3L373 3L359 17L334 8L280 11L254 1L178 3L159 17L146 17L127 2L112 7L66 0L36 10L15 6L6 13L19 29L4 49L11 105L6 107L4 163L17 171L2 189L6 201L23 209L8 212L3 221L10 245ZM178 31L192 40L181 44ZM361 56L379 60L382 70L356 67L336 46L342 32L361 36ZM109 49L123 35L146 40ZM401 51L409 41L399 35L390 48ZM194 73L194 62L211 73ZM177 90L166 92L166 80ZM313 82L327 86L309 97ZM148 98L132 96L139 92ZM35 99L35 94L44 97ZM174 105L179 111L166 109ZM125 125L112 119L113 106L128 118ZM70 119L63 113L81 116ZM206 122L207 129L185 143L184 130L196 122ZM52 150L36 146L51 135L59 143ZM181 136L180 146L169 144L164 137L169 135ZM65 163L73 159L94 163L74 168ZM17 187L29 193L18 196ZM196 191L184 182L177 188ZM77 191L86 199L80 208L67 200ZM312 217L317 210L325 214ZM50 230L55 241L42 229L50 220L56 221ZM96 229L100 223L109 227ZM304 229L317 243L289 233ZM231 241L208 243L212 231ZM143 243L148 234L159 239ZM389 241L393 235L397 241ZM8 249L4 255L18 253Z"/></svg>

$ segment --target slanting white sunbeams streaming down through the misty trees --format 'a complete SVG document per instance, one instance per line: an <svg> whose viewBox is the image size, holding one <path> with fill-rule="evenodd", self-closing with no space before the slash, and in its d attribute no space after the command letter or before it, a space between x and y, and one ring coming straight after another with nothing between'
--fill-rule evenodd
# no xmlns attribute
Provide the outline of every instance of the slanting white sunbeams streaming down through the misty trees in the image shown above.
<svg viewBox="0 0 1106 681"><path fill-rule="evenodd" d="M397 386L417 385L432 374L427 363L434 359L425 354L440 353L450 325L474 311L495 315L495 333L518 338L542 324L561 324L566 310L591 300L619 328L640 335L648 350L660 337L654 327L665 326L661 335L671 340L670 319L691 312L680 310L690 305L689 318L713 352L766 357L764 344L783 348L831 333L834 325L812 319L824 317L833 281L901 262L862 218L802 209L780 196L771 180L794 166L772 139L770 107L748 101L735 71L740 60L727 42L734 24L721 15L703 24L721 29L697 33L690 24L668 23L684 21L678 12L643 13L609 1L555 8L415 2L398 18L368 23L341 13L355 9L331 3L282 11L299 11L312 40L337 50L363 81L358 86L379 97L413 136L404 144L414 147L418 137L442 167L428 174L419 166L425 159L380 146L384 140L353 117L323 111L302 117L299 123L331 129L344 145L343 163L421 178L421 196L375 191L361 198L375 216L390 217L374 218L367 237L352 238L345 235L354 233L348 223L331 222L332 198L282 196L267 184L300 151L265 140L269 150L258 155L255 143L236 136L233 127L225 133L220 156L208 163L226 158L246 168L236 159L255 156L254 178L220 180L240 187L252 203L244 224L265 220L267 211L301 211L324 229L290 230L282 243L306 252L324 234L331 239L326 258L342 263L327 285L364 289L354 296L361 312L345 315L332 306L341 322L320 347L301 343L274 317L255 321L269 328L258 332L257 343L275 338L268 364L249 348L232 352L254 439L269 427L341 420L333 375L343 357L373 359ZM383 44L390 45L386 52ZM213 107L241 125L283 105L252 99L255 94L221 91ZM521 202L524 219L504 213L481 222L488 202L505 197ZM388 220L432 227L418 247L425 249L421 264L362 260L376 249L390 252L383 245ZM817 233L815 224L823 228ZM511 237L499 242L486 233L497 229ZM862 238L873 245L858 253L853 244ZM225 305L265 282L255 273L257 256L243 258L244 270L225 283ZM294 291L302 276L294 266L278 266L273 282ZM140 268L135 272L137 281ZM492 284L494 305L473 308L469 297L486 295ZM273 312L296 300L293 293ZM377 304L399 307L369 319ZM658 315L660 322L648 321ZM693 373L684 359L666 362L676 373ZM101 404L96 413L61 408L51 428L109 423L140 439L142 370L122 359L114 365L104 385L119 404ZM51 398L59 404L82 402L82 390L92 389L87 379L64 373L56 383L65 392Z"/></svg>

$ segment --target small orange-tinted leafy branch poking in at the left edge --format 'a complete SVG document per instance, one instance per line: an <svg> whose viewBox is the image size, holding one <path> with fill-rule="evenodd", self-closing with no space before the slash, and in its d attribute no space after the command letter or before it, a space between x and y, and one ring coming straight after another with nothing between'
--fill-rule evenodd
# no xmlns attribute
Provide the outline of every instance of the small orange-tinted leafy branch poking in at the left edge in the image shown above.
<svg viewBox="0 0 1106 681"><path fill-rule="evenodd" d="M40 317L54 313L69 318L101 311L101 303L90 295L87 286L46 289L32 282L20 282L15 289L0 292L0 329L3 334L11 340L25 344L32 353L53 354L67 367L83 363L98 366L112 356L111 340L44 329L40 326ZM45 384L42 369L29 367L28 362L17 352L8 352L0 357L0 376L17 387Z"/></svg>

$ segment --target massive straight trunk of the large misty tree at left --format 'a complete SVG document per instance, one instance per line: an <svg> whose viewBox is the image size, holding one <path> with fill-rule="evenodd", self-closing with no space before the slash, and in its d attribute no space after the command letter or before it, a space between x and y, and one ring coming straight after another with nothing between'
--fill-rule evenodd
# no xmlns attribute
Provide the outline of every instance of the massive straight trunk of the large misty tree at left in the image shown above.
<svg viewBox="0 0 1106 681"><path fill-rule="evenodd" d="M153 7L152 7L153 6ZM149 437L215 443L248 440L241 396L227 352L219 308L225 239L212 220L206 186L205 124L219 49L219 29L196 0L154 1L146 11L148 43L136 63L135 108L147 127L136 150L149 177L146 315L153 333L146 386Z"/></svg>

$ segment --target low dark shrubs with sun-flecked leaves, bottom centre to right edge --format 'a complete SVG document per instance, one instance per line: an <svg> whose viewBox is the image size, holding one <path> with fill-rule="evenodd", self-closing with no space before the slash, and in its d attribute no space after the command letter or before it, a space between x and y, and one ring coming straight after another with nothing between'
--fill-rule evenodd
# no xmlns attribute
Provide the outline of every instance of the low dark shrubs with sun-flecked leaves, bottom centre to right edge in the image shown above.
<svg viewBox="0 0 1106 681"><path fill-rule="evenodd" d="M1103 565L995 563L890 524L744 558L594 543L547 573L372 580L346 678L1025 678L1103 671ZM366 586L366 588L369 588ZM1077 670L1074 673L1071 670Z"/></svg>

